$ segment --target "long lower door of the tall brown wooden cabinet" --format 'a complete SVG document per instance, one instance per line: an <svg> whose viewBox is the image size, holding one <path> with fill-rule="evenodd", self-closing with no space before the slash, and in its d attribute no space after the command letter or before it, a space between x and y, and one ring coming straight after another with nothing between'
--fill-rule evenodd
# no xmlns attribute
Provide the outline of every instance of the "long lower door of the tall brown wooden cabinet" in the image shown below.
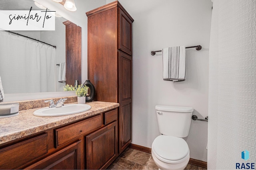
<svg viewBox="0 0 256 170"><path fill-rule="evenodd" d="M119 51L119 152L132 141L132 57Z"/></svg>

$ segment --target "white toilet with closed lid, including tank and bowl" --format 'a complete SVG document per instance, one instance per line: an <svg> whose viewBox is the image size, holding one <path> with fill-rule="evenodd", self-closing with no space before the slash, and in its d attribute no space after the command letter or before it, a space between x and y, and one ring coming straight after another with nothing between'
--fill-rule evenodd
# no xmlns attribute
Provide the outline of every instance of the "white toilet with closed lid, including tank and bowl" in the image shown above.
<svg viewBox="0 0 256 170"><path fill-rule="evenodd" d="M189 161L187 137L192 107L156 106L158 128L162 135L152 143L152 157L159 169L184 169Z"/></svg>

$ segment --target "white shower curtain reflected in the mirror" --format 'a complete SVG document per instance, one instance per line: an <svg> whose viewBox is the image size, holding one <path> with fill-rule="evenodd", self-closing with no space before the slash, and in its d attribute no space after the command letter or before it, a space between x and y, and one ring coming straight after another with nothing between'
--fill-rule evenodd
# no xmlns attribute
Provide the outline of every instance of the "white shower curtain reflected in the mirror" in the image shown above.
<svg viewBox="0 0 256 170"><path fill-rule="evenodd" d="M0 31L0 76L5 93L54 92L55 48Z"/></svg>

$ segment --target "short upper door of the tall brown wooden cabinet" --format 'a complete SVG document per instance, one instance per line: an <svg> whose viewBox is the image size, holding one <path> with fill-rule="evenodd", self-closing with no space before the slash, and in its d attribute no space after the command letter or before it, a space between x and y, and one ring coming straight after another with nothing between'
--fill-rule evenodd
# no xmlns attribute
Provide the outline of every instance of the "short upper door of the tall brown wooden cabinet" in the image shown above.
<svg viewBox="0 0 256 170"><path fill-rule="evenodd" d="M132 55L132 21L118 8L119 27L118 27L118 49Z"/></svg>

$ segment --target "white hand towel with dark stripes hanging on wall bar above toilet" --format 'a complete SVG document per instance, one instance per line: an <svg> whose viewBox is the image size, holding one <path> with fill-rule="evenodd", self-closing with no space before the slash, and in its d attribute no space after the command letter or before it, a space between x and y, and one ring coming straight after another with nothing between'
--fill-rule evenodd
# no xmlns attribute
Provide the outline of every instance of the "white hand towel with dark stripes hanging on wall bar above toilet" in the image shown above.
<svg viewBox="0 0 256 170"><path fill-rule="evenodd" d="M168 47L162 49L163 79L173 82L185 81L186 47Z"/></svg>

